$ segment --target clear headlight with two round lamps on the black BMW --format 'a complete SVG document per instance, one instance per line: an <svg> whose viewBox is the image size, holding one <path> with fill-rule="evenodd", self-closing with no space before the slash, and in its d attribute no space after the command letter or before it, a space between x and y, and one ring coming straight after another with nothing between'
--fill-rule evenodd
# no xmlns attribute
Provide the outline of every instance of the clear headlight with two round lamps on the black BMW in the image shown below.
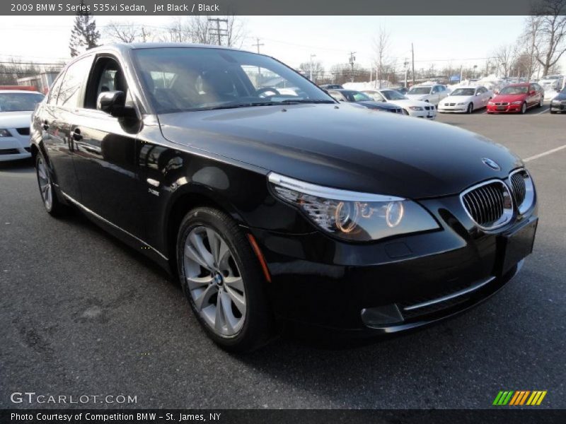
<svg viewBox="0 0 566 424"><path fill-rule="evenodd" d="M439 228L414 201L321 187L274 172L268 179L275 196L299 208L324 232L344 240L367 242Z"/></svg>

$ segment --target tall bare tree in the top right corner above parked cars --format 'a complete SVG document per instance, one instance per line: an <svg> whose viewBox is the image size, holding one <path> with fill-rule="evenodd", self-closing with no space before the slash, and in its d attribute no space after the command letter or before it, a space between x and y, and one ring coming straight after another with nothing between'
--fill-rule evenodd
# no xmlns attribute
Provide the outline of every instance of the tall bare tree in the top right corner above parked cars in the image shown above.
<svg viewBox="0 0 566 424"><path fill-rule="evenodd" d="M536 30L527 28L527 33L536 40L536 60L547 75L566 52L566 0L540 0L533 7L532 19Z"/></svg>

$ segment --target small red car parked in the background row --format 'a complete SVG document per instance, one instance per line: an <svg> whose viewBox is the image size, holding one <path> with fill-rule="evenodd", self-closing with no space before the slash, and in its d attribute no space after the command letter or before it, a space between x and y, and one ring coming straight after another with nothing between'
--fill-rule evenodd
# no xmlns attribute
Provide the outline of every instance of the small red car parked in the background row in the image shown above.
<svg viewBox="0 0 566 424"><path fill-rule="evenodd" d="M529 107L541 107L544 90L537 83L511 84L487 103L487 113L525 113Z"/></svg>

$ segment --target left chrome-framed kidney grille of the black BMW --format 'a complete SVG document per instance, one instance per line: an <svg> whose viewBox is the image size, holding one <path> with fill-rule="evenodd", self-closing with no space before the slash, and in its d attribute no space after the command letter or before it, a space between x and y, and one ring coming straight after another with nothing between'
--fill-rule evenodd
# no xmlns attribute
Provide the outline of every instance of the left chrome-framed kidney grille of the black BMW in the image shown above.
<svg viewBox="0 0 566 424"><path fill-rule="evenodd" d="M513 216L511 193L499 179L467 189L460 199L470 218L484 230L501 227Z"/></svg>

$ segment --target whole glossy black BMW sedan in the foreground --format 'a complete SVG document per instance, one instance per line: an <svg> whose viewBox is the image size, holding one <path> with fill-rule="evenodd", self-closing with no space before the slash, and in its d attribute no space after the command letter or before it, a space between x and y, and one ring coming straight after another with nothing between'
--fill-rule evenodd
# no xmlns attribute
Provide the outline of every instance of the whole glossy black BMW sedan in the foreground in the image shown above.
<svg viewBox="0 0 566 424"><path fill-rule="evenodd" d="M285 323L373 336L450 317L519 271L538 220L507 148L223 47L88 50L37 106L31 151L47 212L79 208L171 270L231 351Z"/></svg>

